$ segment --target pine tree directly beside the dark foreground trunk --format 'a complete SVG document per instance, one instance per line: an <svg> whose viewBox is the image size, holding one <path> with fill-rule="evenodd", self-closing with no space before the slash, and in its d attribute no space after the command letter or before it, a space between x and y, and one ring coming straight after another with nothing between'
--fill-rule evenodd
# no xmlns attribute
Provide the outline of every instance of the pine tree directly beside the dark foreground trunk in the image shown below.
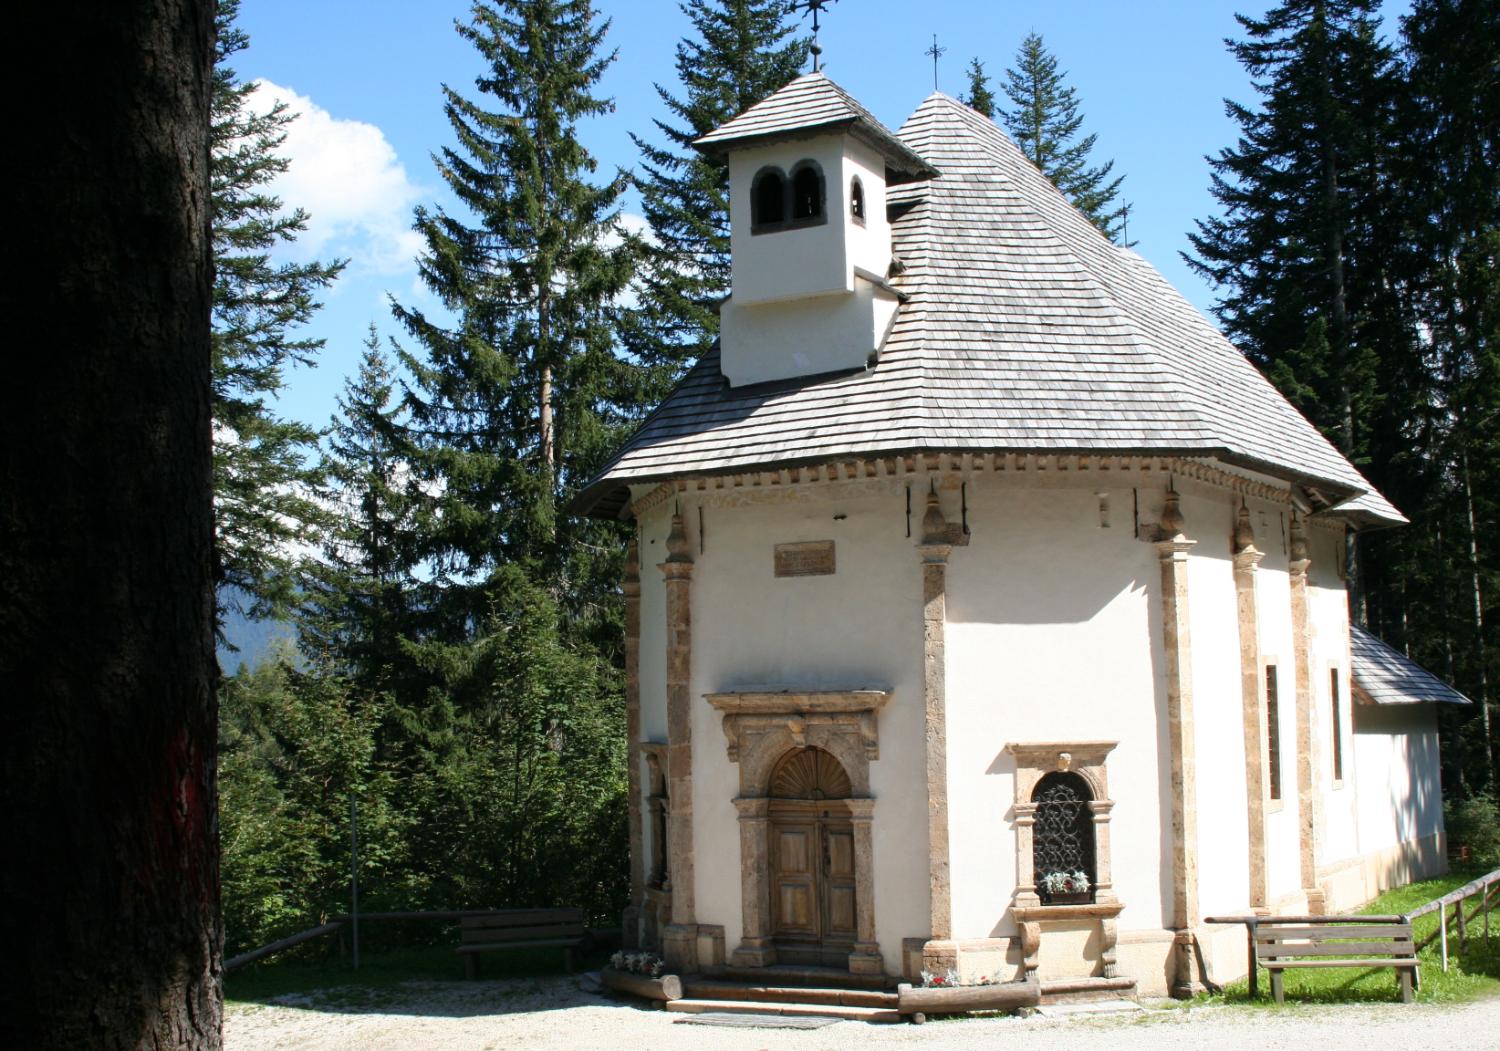
<svg viewBox="0 0 1500 1051"><path fill-rule="evenodd" d="M320 339L296 336L318 309L314 298L342 262L274 264L270 252L308 226L267 186L284 171L278 154L296 114L284 103L255 109L255 84L230 60L249 45L234 24L238 0L216 12L212 112L213 201L213 459L214 532L220 603L264 615L286 609L300 577L298 544L322 523L310 498L316 481L314 429L276 415L267 403L285 370L312 364Z"/></svg>

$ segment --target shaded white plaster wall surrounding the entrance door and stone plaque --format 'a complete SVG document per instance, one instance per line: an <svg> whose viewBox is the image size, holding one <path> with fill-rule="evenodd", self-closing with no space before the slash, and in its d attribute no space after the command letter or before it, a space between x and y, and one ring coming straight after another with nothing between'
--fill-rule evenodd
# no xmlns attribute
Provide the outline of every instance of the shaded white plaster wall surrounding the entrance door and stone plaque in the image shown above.
<svg viewBox="0 0 1500 1051"><path fill-rule="evenodd" d="M921 567L894 481L789 496L684 495L693 576L693 847L698 921L741 937L740 769L702 696L753 685L880 687L874 808L876 936L890 973L903 937L926 936L927 793L922 736ZM698 508L704 508L699 552ZM836 519L834 516L843 516ZM837 573L772 573L778 543L832 540Z"/></svg>

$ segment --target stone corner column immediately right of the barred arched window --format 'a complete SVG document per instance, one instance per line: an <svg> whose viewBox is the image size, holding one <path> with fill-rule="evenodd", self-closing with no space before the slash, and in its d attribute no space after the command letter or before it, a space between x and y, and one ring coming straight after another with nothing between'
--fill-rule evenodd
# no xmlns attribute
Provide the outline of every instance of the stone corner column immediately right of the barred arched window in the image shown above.
<svg viewBox="0 0 1500 1051"><path fill-rule="evenodd" d="M1167 748L1172 760L1172 928L1176 978L1172 994L1203 991L1192 960L1198 913L1197 766L1192 739L1192 645L1188 621L1188 552L1176 490L1167 490L1156 555L1161 559L1161 642L1167 672Z"/></svg>

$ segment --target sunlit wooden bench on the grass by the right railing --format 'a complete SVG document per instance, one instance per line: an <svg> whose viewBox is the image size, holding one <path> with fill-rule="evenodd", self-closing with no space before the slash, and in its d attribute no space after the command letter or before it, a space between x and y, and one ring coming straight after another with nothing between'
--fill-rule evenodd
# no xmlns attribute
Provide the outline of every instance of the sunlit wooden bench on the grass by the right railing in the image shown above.
<svg viewBox="0 0 1500 1051"><path fill-rule="evenodd" d="M1276 1003L1286 1003L1282 972L1288 967L1394 967L1401 1003L1412 1003L1418 963L1410 922L1298 918L1298 922L1260 921L1250 930L1256 963L1270 972Z"/></svg>

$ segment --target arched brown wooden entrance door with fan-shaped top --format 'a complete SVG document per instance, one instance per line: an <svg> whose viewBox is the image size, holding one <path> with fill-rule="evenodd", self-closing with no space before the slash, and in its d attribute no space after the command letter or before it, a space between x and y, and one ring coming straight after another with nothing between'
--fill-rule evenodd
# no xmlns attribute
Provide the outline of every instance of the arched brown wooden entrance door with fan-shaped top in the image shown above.
<svg viewBox="0 0 1500 1051"><path fill-rule="evenodd" d="M771 912L784 963L844 964L855 942L849 778L818 748L788 754L771 780Z"/></svg>

